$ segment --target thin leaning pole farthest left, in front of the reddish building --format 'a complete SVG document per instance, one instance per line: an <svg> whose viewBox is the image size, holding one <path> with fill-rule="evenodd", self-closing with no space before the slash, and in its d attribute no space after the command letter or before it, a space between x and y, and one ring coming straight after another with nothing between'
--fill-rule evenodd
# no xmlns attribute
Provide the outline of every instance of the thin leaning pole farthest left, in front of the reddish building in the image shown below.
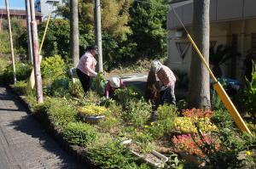
<svg viewBox="0 0 256 169"><path fill-rule="evenodd" d="M5 0L5 7L6 7L7 18L8 18L9 44L10 44L10 50L11 50L11 55L12 55L12 65L13 65L13 71L14 71L14 83L16 83L15 52L14 52L14 44L13 44L13 36L12 36L12 26L10 24L10 19L9 19L9 1L8 0Z"/></svg>

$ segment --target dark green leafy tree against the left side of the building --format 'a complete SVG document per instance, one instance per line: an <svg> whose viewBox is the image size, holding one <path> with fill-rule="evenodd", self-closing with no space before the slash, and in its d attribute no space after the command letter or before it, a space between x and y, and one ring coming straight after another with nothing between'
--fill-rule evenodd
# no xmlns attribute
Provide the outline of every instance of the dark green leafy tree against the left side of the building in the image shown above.
<svg viewBox="0 0 256 169"><path fill-rule="evenodd" d="M166 54L166 0L134 1L130 9L131 40L137 43L140 57L155 58Z"/></svg>

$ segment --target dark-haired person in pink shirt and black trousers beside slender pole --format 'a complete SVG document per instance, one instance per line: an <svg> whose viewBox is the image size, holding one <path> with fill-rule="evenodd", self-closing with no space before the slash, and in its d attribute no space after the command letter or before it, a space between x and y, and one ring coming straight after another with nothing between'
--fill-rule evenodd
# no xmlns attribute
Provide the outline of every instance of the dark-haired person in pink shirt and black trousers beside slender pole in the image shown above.
<svg viewBox="0 0 256 169"><path fill-rule="evenodd" d="M95 71L97 63L95 59L96 54L98 54L97 46L89 46L86 48L85 54L79 60L77 74L82 83L84 93L87 93L90 89L91 77L97 76L97 72Z"/></svg>

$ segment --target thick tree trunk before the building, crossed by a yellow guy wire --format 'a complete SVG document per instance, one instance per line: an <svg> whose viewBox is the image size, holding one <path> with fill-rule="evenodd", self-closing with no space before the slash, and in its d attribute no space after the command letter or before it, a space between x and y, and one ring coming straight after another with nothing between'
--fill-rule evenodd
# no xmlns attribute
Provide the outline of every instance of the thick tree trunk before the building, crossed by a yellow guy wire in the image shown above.
<svg viewBox="0 0 256 169"><path fill-rule="evenodd" d="M193 38L201 54L209 63L210 0L194 0ZM209 72L193 49L189 76L189 107L210 108Z"/></svg>

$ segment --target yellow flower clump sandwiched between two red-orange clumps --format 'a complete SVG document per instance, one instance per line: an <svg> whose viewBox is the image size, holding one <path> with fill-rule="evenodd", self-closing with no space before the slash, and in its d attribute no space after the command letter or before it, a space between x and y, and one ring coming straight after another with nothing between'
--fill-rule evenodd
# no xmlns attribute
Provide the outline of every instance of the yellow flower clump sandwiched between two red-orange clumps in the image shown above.
<svg viewBox="0 0 256 169"><path fill-rule="evenodd" d="M212 124L209 118L191 118L191 117L177 117L174 120L175 128L180 132L196 132L195 123L201 129L201 132L216 131L217 127Z"/></svg>

